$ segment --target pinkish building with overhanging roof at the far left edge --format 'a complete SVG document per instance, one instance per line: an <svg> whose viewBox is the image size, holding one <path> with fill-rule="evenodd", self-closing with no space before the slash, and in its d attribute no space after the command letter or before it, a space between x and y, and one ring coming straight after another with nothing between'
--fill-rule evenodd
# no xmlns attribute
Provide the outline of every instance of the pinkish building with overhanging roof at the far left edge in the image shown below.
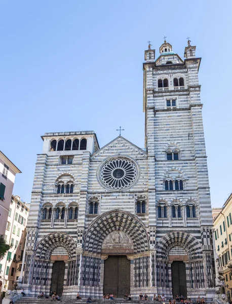
<svg viewBox="0 0 232 304"><path fill-rule="evenodd" d="M5 235L16 173L21 171L0 151L0 235Z"/></svg>

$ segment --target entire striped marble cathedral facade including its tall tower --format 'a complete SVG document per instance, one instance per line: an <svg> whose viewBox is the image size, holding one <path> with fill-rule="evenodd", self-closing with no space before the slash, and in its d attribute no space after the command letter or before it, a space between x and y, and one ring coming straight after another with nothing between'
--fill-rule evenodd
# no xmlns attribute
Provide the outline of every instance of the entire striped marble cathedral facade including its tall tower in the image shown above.
<svg viewBox="0 0 232 304"><path fill-rule="evenodd" d="M166 41L143 64L145 150L93 131L46 133L37 156L22 286L27 294L125 293L212 300L212 213L201 58ZM157 59L156 59L157 58Z"/></svg>

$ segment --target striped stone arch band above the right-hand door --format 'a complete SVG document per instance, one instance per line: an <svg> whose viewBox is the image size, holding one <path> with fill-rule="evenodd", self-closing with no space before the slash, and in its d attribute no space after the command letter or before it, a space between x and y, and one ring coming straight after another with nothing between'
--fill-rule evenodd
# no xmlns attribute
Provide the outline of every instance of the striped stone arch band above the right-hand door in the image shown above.
<svg viewBox="0 0 232 304"><path fill-rule="evenodd" d="M202 258L202 246L192 235L183 231L173 231L166 234L157 244L157 257L168 258L170 249L182 247L188 253L189 259Z"/></svg>

